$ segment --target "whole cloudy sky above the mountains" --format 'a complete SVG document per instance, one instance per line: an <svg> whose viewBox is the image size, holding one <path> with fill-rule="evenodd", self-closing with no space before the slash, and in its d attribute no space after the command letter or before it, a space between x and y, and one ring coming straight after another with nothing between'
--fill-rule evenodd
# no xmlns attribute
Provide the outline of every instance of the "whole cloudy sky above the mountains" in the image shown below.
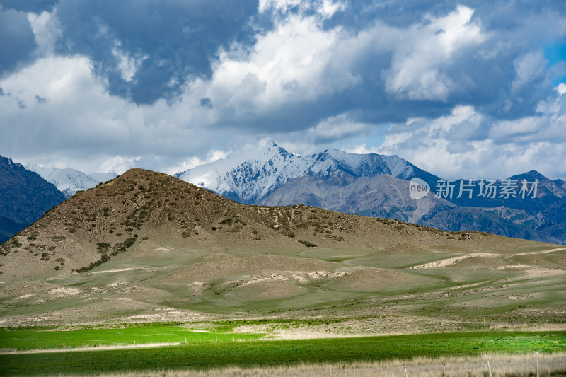
<svg viewBox="0 0 566 377"><path fill-rule="evenodd" d="M177 173L270 141L566 179L566 2L0 0L0 155Z"/></svg>

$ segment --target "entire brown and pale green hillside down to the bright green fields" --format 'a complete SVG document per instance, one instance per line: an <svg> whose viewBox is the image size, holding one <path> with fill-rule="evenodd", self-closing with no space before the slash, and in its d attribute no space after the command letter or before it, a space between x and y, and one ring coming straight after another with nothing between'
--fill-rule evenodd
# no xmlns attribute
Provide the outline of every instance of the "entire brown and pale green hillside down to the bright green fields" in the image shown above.
<svg viewBox="0 0 566 377"><path fill-rule="evenodd" d="M0 253L5 325L323 319L248 329L287 337L566 318L563 246L246 206L141 169L77 193Z"/></svg>

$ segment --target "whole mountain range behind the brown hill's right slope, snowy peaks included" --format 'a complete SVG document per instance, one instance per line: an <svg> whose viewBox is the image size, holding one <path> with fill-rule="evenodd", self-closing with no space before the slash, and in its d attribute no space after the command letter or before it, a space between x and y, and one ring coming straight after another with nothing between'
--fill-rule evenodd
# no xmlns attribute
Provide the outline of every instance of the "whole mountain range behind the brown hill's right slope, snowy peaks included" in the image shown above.
<svg viewBox="0 0 566 377"><path fill-rule="evenodd" d="M446 181L398 156L336 149L298 156L271 143L175 176L243 204L300 203L446 231L566 243L566 182L536 171L499 180ZM413 178L429 185L426 197L412 199ZM446 184L451 195L438 191Z"/></svg>

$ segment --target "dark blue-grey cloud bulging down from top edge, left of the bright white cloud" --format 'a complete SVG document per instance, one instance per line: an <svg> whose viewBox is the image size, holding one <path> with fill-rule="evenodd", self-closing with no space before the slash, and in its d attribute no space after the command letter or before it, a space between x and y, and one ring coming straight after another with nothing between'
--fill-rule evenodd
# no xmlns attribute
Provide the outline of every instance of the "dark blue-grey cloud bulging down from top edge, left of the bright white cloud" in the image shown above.
<svg viewBox="0 0 566 377"><path fill-rule="evenodd" d="M57 6L63 33L57 52L91 58L96 73L108 79L112 95L138 104L173 98L189 77L212 74L211 61L220 47L228 48L233 40L251 41L246 21L257 10L257 1L234 5L63 0Z"/></svg>

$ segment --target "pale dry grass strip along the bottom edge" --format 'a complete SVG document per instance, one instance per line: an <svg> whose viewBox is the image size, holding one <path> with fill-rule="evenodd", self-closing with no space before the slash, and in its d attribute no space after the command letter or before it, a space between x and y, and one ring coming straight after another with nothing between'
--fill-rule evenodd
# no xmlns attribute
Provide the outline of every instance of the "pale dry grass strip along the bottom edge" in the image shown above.
<svg viewBox="0 0 566 377"><path fill-rule="evenodd" d="M177 371L146 371L134 373L100 374L100 377L262 377L262 376L296 376L296 377L335 377L335 376L489 376L487 361L490 362L492 376L536 376L537 356L485 354L483 356L449 357L431 359L417 357L412 360L393 360L357 363L333 364L299 364L294 366L270 366L243 369L228 366L206 371L190 369ZM540 376L550 376L566 372L566 352L538 355L538 372Z"/></svg>

